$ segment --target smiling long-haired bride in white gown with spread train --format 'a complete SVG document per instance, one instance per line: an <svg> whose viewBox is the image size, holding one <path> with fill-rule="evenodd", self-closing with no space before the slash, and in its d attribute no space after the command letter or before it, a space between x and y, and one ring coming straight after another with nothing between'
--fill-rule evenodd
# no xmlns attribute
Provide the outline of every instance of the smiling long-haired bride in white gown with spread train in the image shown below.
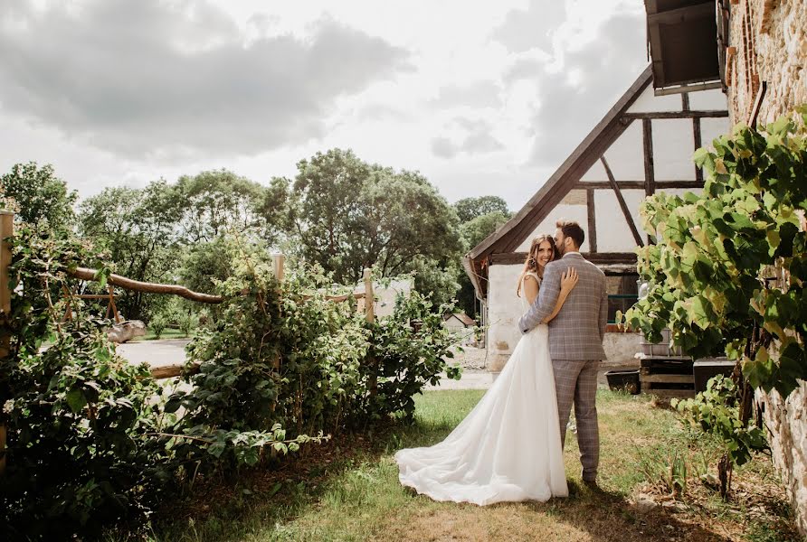
<svg viewBox="0 0 807 542"><path fill-rule="evenodd" d="M554 238L533 239L516 290L522 312L536 300L544 266L555 257ZM395 453L404 486L433 500L479 505L569 494L546 322L577 278L574 269L565 273L555 311L522 336L493 386L451 435L428 448Z"/></svg>

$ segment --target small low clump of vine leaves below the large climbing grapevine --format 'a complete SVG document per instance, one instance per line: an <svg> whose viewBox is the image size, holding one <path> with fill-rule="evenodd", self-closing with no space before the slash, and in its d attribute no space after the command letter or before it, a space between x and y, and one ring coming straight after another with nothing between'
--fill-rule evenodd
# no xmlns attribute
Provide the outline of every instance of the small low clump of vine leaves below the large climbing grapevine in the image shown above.
<svg viewBox="0 0 807 542"><path fill-rule="evenodd" d="M693 399L673 399L672 406L686 423L717 436L726 446L731 462L740 466L751 461L751 453L768 449L764 427L743 421L740 398L736 384L730 378L717 375L709 379L706 391Z"/></svg>

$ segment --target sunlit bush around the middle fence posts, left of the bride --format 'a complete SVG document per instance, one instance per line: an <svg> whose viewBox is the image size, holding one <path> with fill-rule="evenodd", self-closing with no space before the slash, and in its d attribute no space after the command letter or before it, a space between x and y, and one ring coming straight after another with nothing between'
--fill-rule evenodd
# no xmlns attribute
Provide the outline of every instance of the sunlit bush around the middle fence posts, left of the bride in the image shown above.
<svg viewBox="0 0 807 542"><path fill-rule="evenodd" d="M392 317L371 325L355 302L326 299L331 283L316 269L292 268L279 284L260 247L228 250L233 276L219 285L222 316L188 346L189 359L201 363L187 378L195 388L168 402L172 411L185 407L187 424L244 430L279 422L295 434L336 432L411 416L412 396L426 382L444 370L458 377L443 360L453 339L441 312L421 295L400 297Z"/></svg>

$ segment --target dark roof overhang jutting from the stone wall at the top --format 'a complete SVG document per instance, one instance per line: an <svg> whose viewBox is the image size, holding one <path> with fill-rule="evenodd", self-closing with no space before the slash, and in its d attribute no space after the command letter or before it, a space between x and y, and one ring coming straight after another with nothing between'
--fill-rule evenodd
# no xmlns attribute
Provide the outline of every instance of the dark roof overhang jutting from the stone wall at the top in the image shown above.
<svg viewBox="0 0 807 542"><path fill-rule="evenodd" d="M722 89L717 34L722 2L644 0L644 5L656 95Z"/></svg>

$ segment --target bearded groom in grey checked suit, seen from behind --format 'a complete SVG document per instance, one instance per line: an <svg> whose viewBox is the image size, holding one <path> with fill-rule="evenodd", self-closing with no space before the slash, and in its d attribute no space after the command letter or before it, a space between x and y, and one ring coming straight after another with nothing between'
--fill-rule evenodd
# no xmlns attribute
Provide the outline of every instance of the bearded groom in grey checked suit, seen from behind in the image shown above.
<svg viewBox="0 0 807 542"><path fill-rule="evenodd" d="M580 279L563 308L549 322L549 355L555 371L561 443L565 443L566 424L574 401L583 481L586 485L596 486L600 435L595 395L597 369L600 361L605 359L603 337L608 322L608 293L605 274L580 255L585 238L580 225L558 220L555 226L555 245L562 257L546 264L540 294L518 322L518 328L523 333L529 332L553 312L561 277L566 269L574 267Z"/></svg>

